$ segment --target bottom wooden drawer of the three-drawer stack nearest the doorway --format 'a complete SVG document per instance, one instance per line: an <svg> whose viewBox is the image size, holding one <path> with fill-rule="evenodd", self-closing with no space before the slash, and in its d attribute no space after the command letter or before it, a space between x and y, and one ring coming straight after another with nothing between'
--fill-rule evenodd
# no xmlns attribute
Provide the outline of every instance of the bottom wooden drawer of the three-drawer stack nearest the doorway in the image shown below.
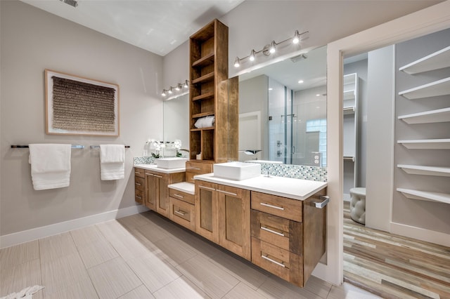
<svg viewBox="0 0 450 299"><path fill-rule="evenodd" d="M303 286L303 257L278 246L252 237L252 263L290 281Z"/></svg>

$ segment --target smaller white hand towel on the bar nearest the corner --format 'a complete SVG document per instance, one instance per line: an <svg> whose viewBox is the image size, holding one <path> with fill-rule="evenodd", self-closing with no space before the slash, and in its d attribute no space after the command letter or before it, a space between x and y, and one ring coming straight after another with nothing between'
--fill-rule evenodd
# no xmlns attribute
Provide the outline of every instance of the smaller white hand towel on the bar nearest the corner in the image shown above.
<svg viewBox="0 0 450 299"><path fill-rule="evenodd" d="M125 145L100 145L101 180L125 178Z"/></svg>

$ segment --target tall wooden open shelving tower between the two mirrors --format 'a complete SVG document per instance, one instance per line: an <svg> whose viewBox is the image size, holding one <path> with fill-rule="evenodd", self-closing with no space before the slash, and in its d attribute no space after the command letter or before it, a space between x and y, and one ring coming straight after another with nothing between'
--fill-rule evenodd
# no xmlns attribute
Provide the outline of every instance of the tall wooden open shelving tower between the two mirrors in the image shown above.
<svg viewBox="0 0 450 299"><path fill-rule="evenodd" d="M221 163L237 159L238 97L228 79L228 27L212 20L190 38L190 159ZM229 109L231 106L231 109ZM236 106L236 107L235 107ZM195 127L201 117L214 117L213 126ZM236 138L236 142L233 141ZM229 144L236 143L236 151ZM196 159L201 152L201 159ZM236 152L236 153L235 153Z"/></svg>

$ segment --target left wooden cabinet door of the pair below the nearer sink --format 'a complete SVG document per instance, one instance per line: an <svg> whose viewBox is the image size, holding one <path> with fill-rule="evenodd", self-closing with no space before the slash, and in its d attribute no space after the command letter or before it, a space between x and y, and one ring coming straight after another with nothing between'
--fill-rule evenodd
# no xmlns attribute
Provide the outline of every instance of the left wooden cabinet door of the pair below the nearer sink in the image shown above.
<svg viewBox="0 0 450 299"><path fill-rule="evenodd" d="M219 243L217 191L215 184L195 182L195 232Z"/></svg>

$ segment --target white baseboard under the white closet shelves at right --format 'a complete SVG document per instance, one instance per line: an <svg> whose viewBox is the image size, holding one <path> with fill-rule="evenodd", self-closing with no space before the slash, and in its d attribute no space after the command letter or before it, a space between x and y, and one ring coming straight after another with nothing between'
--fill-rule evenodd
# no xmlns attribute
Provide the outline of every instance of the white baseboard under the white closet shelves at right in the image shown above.
<svg viewBox="0 0 450 299"><path fill-rule="evenodd" d="M450 234L445 234L444 232L425 230L420 227L403 225L396 222L391 222L391 232L392 234L399 234L401 236L450 247Z"/></svg>

